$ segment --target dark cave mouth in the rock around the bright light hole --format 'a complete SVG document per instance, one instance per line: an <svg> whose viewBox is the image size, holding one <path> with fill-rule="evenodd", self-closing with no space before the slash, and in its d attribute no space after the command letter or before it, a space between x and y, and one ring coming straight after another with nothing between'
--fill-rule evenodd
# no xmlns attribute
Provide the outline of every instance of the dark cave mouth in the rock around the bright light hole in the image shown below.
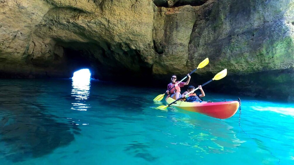
<svg viewBox="0 0 294 165"><path fill-rule="evenodd" d="M80 79L74 75L80 69L88 69L90 79L120 84L138 84L138 81L142 81L142 85L146 82L146 76L152 77L151 64L144 61L140 50L131 49L127 43L58 42L58 45L64 50L64 56L59 58L63 60L59 62L59 70L68 73L67 78Z"/></svg>

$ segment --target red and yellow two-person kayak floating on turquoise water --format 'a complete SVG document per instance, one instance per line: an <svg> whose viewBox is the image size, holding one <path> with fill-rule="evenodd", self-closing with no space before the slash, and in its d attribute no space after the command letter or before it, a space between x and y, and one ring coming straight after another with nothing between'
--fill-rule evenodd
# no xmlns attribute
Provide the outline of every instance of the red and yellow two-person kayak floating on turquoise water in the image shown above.
<svg viewBox="0 0 294 165"><path fill-rule="evenodd" d="M168 104L175 101L173 98L166 98ZM225 102L211 102L211 103L198 103L198 102L185 102L177 101L172 104L175 107L191 112L201 113L213 118L227 119L235 115L237 112L240 102L239 101L225 101Z"/></svg>

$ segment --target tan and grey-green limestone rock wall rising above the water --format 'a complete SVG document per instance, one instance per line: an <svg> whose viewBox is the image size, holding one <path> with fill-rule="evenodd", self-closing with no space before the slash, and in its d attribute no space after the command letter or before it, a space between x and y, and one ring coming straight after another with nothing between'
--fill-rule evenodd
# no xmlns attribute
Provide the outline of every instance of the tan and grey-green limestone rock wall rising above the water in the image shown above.
<svg viewBox="0 0 294 165"><path fill-rule="evenodd" d="M166 84L209 57L195 83L227 68L220 92L239 83L234 91L260 96L277 80L291 100L293 8L293 0L0 0L0 75L70 77L88 67L99 79ZM271 75L266 86L250 81L258 73Z"/></svg>

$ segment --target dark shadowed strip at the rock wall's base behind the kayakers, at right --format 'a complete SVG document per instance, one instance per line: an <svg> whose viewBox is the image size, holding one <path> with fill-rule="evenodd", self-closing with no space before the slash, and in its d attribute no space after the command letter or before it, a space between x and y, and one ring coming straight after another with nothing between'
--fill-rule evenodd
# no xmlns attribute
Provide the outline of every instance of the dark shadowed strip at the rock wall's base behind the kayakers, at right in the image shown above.
<svg viewBox="0 0 294 165"><path fill-rule="evenodd" d="M166 89L170 83L171 75L156 75L154 79L157 85ZM177 75L181 80L186 75ZM189 85L198 86L212 79L215 74L193 73ZM186 82L185 79L183 82ZM263 71L250 74L228 74L223 79L212 81L203 87L204 91L212 93L231 94L236 97L250 96L269 100L279 100L294 102L294 71L290 69ZM188 86L184 86L181 91L186 91ZM196 91L196 93L198 93Z"/></svg>

